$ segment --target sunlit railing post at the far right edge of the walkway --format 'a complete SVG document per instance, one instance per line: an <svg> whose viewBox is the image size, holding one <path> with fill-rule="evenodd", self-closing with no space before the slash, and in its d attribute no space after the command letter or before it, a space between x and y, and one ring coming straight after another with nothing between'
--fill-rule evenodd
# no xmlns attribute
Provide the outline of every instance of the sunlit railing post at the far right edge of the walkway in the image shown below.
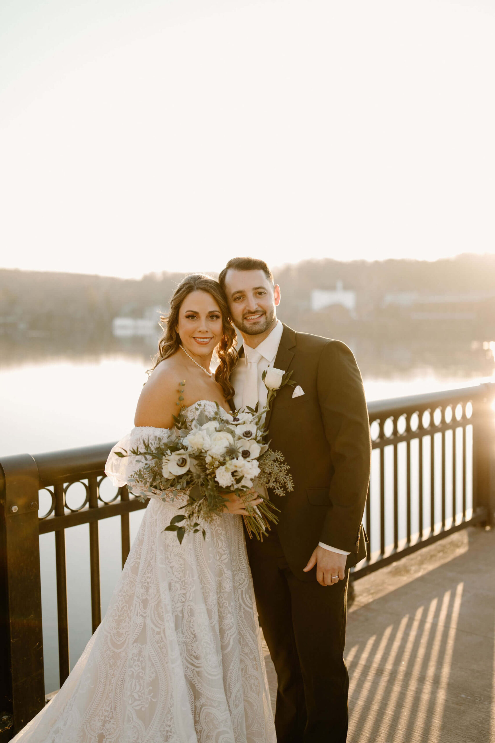
<svg viewBox="0 0 495 743"><path fill-rule="evenodd" d="M473 510L486 509L485 525L495 525L495 385L481 385L473 398Z"/></svg>

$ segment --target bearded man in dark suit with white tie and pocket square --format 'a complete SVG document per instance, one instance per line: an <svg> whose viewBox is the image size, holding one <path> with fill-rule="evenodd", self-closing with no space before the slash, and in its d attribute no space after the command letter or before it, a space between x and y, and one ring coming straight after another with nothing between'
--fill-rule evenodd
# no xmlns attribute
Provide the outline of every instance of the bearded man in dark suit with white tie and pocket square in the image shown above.
<svg viewBox="0 0 495 743"><path fill-rule="evenodd" d="M370 429L361 374L347 345L296 333L277 319L278 285L264 261L234 258L219 276L243 337L236 409L266 403L268 366L292 371L266 418L294 490L269 537L248 552L263 635L278 678L278 743L344 743L349 568L366 556L361 526L370 477Z"/></svg>

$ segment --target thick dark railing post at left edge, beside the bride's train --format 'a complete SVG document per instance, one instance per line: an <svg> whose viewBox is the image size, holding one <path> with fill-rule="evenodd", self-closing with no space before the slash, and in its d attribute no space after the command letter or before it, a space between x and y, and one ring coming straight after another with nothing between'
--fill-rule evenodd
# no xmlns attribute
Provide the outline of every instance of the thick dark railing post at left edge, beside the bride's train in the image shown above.
<svg viewBox="0 0 495 743"><path fill-rule="evenodd" d="M38 468L28 454L0 467L1 713L10 740L45 705L42 588L39 574Z"/></svg>

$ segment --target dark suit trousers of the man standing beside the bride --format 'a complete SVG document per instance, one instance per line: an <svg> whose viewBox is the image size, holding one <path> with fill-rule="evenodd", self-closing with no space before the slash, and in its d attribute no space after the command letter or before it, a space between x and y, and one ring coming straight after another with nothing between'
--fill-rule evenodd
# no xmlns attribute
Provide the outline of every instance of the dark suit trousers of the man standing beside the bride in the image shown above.
<svg viewBox="0 0 495 743"><path fill-rule="evenodd" d="M298 580L276 533L250 545L256 606L278 678L278 743L344 743L349 676L343 653L347 579Z"/></svg>

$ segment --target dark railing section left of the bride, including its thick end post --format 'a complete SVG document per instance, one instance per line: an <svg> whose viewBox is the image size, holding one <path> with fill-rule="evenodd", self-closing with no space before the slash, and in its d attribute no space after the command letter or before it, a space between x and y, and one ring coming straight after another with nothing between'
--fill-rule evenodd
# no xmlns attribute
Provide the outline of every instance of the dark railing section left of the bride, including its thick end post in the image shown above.
<svg viewBox="0 0 495 743"><path fill-rule="evenodd" d="M130 549L129 513L146 504L126 487L102 497L105 462L113 444L36 455L5 457L0 465L1 633L5 649L0 674L0 741L20 730L45 704L39 535L55 533L59 680L69 674L69 628L65 530L88 524L93 632L101 621L98 522L120 516L122 567ZM68 490L79 483L77 507ZM41 498L40 498L41 496ZM40 501L48 499L45 513ZM51 690L49 690L51 691ZM2 727L4 731L2 733ZM1 737L3 736L3 737Z"/></svg>

